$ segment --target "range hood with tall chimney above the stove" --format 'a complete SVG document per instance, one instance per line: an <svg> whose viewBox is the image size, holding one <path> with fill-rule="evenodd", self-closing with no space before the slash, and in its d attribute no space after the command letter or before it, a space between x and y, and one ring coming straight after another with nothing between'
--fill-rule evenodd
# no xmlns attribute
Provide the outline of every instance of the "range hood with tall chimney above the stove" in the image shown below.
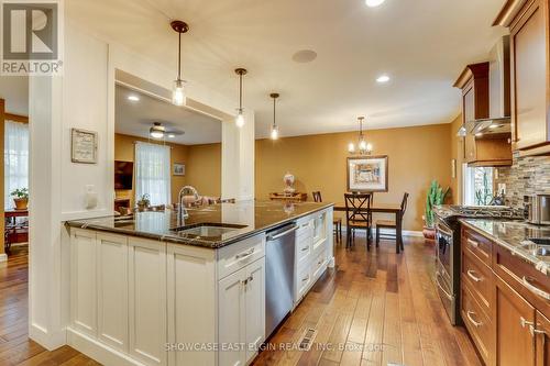
<svg viewBox="0 0 550 366"><path fill-rule="evenodd" d="M512 133L509 44L509 35L503 36L490 53L490 118L466 121L462 131L459 131L462 135L473 134L476 138L491 138Z"/></svg>

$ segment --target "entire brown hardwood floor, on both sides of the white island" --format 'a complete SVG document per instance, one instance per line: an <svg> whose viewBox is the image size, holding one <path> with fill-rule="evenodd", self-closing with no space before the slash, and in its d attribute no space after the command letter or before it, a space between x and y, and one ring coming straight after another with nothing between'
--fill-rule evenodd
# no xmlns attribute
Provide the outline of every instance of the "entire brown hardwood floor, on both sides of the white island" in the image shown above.
<svg viewBox="0 0 550 366"><path fill-rule="evenodd" d="M255 365L481 365L463 328L453 328L431 282L424 240L366 253L364 237L337 246L329 270L287 319ZM28 337L28 252L0 264L0 365L99 365L69 346L47 352ZM317 330L309 351L294 343ZM286 345L283 350L279 345Z"/></svg>

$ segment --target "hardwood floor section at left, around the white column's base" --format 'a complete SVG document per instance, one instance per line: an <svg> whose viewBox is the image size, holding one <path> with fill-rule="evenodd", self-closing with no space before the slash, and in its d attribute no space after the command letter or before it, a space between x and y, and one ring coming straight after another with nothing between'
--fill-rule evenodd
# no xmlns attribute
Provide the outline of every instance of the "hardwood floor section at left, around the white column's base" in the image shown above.
<svg viewBox="0 0 550 366"><path fill-rule="evenodd" d="M0 365L99 365L69 346L48 352L29 339L28 254L13 246L0 263Z"/></svg>

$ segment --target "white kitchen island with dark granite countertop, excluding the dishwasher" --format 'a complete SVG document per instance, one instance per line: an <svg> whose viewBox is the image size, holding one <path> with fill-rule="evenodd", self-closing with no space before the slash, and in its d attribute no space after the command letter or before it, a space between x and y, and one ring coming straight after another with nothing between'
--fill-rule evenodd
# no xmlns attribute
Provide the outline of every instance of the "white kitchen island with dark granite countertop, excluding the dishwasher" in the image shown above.
<svg viewBox="0 0 550 366"><path fill-rule="evenodd" d="M265 341L266 241L293 231L296 307L332 253L332 204L245 201L69 221L68 344L103 364L244 365ZM288 231L288 230L287 230Z"/></svg>

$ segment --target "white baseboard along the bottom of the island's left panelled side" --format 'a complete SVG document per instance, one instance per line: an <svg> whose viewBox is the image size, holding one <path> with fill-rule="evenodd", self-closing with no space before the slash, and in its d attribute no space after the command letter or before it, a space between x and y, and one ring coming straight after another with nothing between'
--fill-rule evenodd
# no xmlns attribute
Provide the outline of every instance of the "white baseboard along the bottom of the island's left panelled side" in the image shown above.
<svg viewBox="0 0 550 366"><path fill-rule="evenodd" d="M67 341L69 346L103 365L146 366L72 328L67 328Z"/></svg>

